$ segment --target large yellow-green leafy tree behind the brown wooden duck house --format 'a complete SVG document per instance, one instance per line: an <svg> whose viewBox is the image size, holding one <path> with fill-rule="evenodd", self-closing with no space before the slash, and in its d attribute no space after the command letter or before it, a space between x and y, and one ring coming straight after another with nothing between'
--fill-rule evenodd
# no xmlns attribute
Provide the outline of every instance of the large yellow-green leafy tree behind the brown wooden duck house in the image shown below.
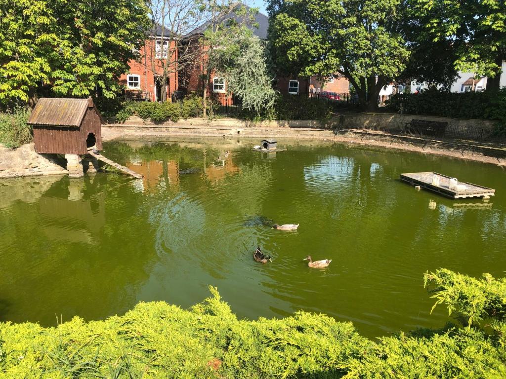
<svg viewBox="0 0 506 379"><path fill-rule="evenodd" d="M0 100L119 91L149 25L143 0L0 0Z"/></svg>

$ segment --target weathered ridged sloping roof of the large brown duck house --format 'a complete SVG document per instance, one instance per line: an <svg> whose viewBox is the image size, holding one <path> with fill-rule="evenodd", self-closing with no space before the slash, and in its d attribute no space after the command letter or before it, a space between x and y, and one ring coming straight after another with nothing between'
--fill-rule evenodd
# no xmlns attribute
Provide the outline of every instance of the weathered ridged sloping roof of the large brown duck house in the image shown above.
<svg viewBox="0 0 506 379"><path fill-rule="evenodd" d="M33 108L28 123L79 127L88 104L88 99L41 98Z"/></svg>

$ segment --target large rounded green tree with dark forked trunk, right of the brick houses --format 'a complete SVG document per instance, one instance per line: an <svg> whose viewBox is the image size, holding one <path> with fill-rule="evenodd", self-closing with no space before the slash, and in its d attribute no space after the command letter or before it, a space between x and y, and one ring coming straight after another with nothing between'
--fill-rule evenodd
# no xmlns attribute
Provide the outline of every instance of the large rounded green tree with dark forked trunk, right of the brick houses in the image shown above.
<svg viewBox="0 0 506 379"><path fill-rule="evenodd" d="M269 1L271 54L281 72L348 78L360 103L377 108L379 91L405 69L400 0Z"/></svg>

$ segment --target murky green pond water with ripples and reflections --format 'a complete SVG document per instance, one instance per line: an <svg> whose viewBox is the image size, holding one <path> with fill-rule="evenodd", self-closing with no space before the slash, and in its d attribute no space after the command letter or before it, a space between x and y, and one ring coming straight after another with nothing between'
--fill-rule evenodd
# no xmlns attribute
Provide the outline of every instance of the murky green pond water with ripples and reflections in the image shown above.
<svg viewBox="0 0 506 379"><path fill-rule="evenodd" d="M448 320L443 306L430 314L427 270L504 275L500 167L297 140L268 155L252 151L258 142L112 141L104 155L144 179L0 181L0 320L103 319L140 301L187 308L212 285L240 318L302 309L375 337ZM433 170L497 195L451 200L398 180ZM252 259L257 246L272 263ZM332 263L311 269L308 254Z"/></svg>

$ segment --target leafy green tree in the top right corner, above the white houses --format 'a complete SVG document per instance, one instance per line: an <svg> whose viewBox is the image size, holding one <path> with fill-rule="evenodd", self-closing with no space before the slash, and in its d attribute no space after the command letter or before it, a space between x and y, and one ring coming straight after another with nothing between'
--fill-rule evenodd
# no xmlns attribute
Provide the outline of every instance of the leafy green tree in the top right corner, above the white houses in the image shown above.
<svg viewBox="0 0 506 379"><path fill-rule="evenodd" d="M497 92L506 59L506 3L503 0L411 0L429 37L456 45L455 68L486 75L487 91Z"/></svg>

